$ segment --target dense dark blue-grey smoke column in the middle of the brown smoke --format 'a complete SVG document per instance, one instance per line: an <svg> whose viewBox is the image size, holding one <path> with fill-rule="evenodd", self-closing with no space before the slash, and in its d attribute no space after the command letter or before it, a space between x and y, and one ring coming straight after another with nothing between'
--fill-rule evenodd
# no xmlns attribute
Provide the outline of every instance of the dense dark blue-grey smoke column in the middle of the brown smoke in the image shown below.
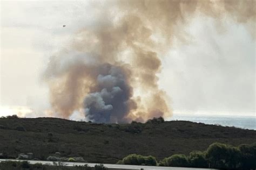
<svg viewBox="0 0 256 170"><path fill-rule="evenodd" d="M93 122L127 122L132 89L122 67L100 66L96 90L84 98L85 116Z"/></svg>

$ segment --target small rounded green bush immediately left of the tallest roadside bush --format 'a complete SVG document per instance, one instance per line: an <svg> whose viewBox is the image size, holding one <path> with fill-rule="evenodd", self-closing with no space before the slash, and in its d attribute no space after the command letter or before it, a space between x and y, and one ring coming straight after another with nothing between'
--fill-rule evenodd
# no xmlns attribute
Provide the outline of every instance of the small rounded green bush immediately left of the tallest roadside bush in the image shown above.
<svg viewBox="0 0 256 170"><path fill-rule="evenodd" d="M190 152L190 155L188 157L188 162L192 167L198 167L198 168L208 167L208 162L205 158L205 153L201 151Z"/></svg>

